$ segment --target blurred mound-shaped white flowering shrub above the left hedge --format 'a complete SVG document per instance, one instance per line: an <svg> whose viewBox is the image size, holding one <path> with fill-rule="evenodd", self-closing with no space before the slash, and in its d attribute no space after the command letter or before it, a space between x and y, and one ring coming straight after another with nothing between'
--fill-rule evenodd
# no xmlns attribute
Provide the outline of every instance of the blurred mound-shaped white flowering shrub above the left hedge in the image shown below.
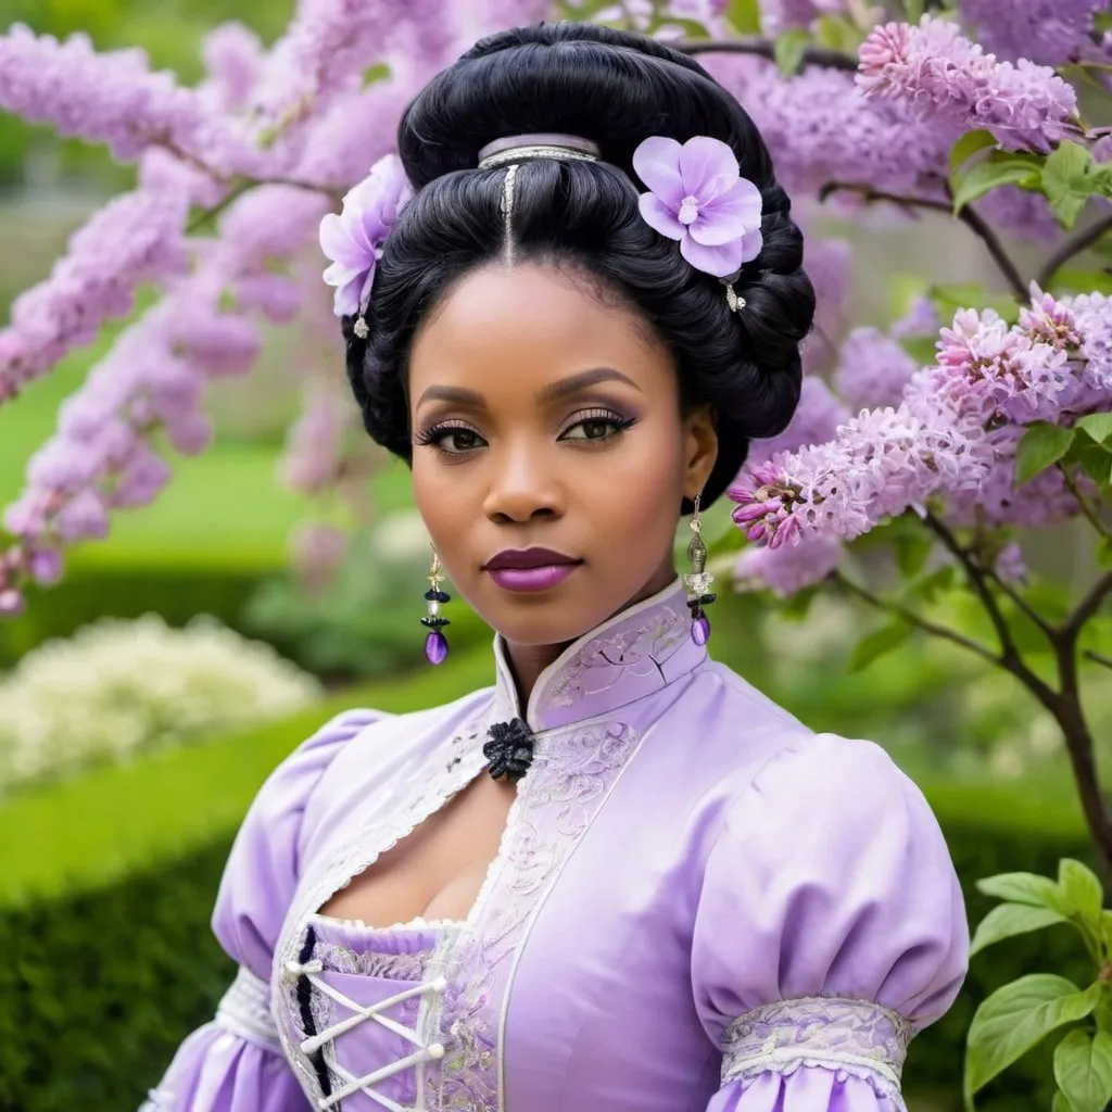
<svg viewBox="0 0 1112 1112"><path fill-rule="evenodd" d="M106 618L29 653L0 679L0 792L289 714L318 681L269 646L200 617Z"/></svg>

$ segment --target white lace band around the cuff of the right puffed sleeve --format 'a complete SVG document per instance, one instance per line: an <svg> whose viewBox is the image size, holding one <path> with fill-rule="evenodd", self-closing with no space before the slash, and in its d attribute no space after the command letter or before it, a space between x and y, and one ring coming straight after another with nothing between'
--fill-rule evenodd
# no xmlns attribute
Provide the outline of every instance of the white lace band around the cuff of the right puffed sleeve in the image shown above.
<svg viewBox="0 0 1112 1112"><path fill-rule="evenodd" d="M903 1109L900 1076L914 1029L909 1020L867 1000L804 996L739 1015L723 1034L722 1083L758 1073L824 1066L867 1081Z"/></svg>

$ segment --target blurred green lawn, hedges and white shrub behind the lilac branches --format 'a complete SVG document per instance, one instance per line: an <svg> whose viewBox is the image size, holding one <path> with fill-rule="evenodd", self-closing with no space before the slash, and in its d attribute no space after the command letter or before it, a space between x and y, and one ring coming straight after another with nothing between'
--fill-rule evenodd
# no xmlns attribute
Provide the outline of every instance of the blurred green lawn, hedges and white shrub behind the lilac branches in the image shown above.
<svg viewBox="0 0 1112 1112"><path fill-rule="evenodd" d="M269 42L291 10L290 0L0 0L0 27L140 46L155 68L191 82L212 27L240 20ZM101 149L0 115L0 319L49 274L69 234L132 183L133 170ZM924 278L993 281L979 245L945 222L825 218L821 230L853 244L857 324L883 327ZM901 259L914 260L914 277L901 277ZM489 631L463 604L448 664L424 664L427 548L404 466L357 445L346 480L355 498L310 499L284 481L306 391L344 381L328 300L321 287L319 330L274 328L249 378L214 387L210 450L172 460L175 479L152 506L119 514L60 584L0 624L9 1112L133 1108L211 1014L232 973L207 925L220 870L255 791L299 741L345 707L406 711L492 679ZM0 408L0 504L19 494L60 403L119 327ZM712 518L719 535L724 513ZM1029 560L1071 582L1086 569L1071 537L1035 539ZM952 605L956 627L980 631L972 606ZM922 784L974 920L986 906L976 877L1088 860L1060 739L1009 677L920 639L870 662L853 649L872 618L846 600L805 596L793 608L725 590L715 609L718 658L815 729L875 738ZM1090 707L1106 762L1112 683ZM979 959L957 1006L912 1052L913 1112L960 1108L964 1032L991 987L1027 965L1065 972L1071 955L1050 934ZM1045 1073L1036 1062L1030 1075ZM1013 1074L983 1106L1034 1108L1026 1086Z"/></svg>

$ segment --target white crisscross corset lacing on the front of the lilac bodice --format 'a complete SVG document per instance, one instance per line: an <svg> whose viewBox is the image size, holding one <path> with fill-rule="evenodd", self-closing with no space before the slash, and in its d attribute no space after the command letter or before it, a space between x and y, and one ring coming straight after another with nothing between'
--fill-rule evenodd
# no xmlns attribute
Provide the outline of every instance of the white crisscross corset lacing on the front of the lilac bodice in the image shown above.
<svg viewBox="0 0 1112 1112"><path fill-rule="evenodd" d="M344 1007L349 1009L353 1014L342 1020L338 1020L331 1026L326 1027L324 1031L317 1032L310 1037L304 1040L300 1044L301 1052L307 1056L316 1054L317 1051L330 1043L334 1039L337 1039L345 1032L350 1031L353 1027L359 1026L360 1023L366 1023L368 1020L374 1020L376 1023L386 1027L387 1031L391 1031L394 1034L400 1035L407 1042L413 1043L414 1046L417 1048L417 1051L413 1054L407 1054L405 1058L398 1059L397 1062L391 1062L389 1065L384 1065L379 1070L365 1074L361 1078L356 1078L348 1073L347 1070L337 1064L335 1061L329 1062L329 1069L344 1082L344 1084L317 1101L317 1106L321 1110L321 1112L327 1112L328 1109L337 1105L341 1100L344 1100L345 1096L350 1096L353 1093L363 1091L371 1100L381 1104L383 1108L388 1109L389 1112L408 1112L408 1110L401 1104L398 1104L396 1101L391 1101L388 1096L384 1096L370 1086L378 1084L380 1081L386 1081L388 1078L393 1078L394 1074L400 1073L403 1070L408 1070L411 1066L418 1066L425 1062L433 1062L444 1058L444 1043L434 1042L425 1045L421 1043L420 1035L411 1027L407 1027L404 1023L398 1023L397 1020L391 1020L388 1015L383 1015L381 1013L389 1011L389 1009L394 1007L395 1004L400 1004L403 1001L411 1000L414 996L424 996L429 993L439 995L447 987L447 981L444 977L436 977L425 984L405 989L387 1000L379 1001L377 1004L364 1005L357 1004L354 1000L349 1000L338 989L332 987L332 985L328 984L327 981L322 981L317 975L322 972L322 970L324 966L319 961L288 962L286 964L286 971L290 976L307 977L309 983L315 989L325 993L325 995L330 996L338 1004L342 1004Z"/></svg>

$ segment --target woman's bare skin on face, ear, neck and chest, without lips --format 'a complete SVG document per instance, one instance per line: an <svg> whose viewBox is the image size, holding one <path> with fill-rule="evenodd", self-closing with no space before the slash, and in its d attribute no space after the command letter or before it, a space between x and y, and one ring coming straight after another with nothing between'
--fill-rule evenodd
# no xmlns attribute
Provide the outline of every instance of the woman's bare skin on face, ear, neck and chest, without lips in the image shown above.
<svg viewBox="0 0 1112 1112"><path fill-rule="evenodd" d="M635 311L536 265L494 264L449 291L414 342L409 397L417 507L451 584L505 638L524 714L568 644L675 578L681 500L717 454L713 417L681 413L672 356ZM536 594L483 570L534 546L583 564ZM321 911L377 926L465 919L516 794L476 777Z"/></svg>

